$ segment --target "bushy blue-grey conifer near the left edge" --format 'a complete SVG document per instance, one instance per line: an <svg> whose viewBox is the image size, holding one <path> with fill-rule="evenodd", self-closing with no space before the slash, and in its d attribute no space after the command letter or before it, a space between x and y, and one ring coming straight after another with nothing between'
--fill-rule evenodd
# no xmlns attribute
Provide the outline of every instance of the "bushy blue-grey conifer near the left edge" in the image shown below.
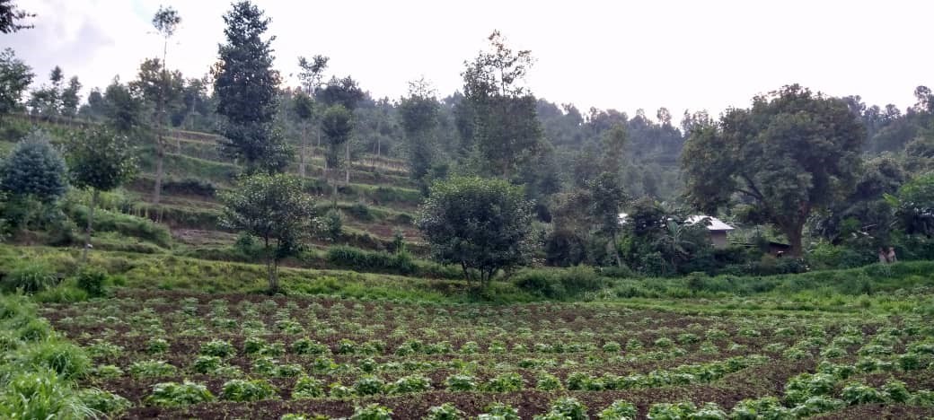
<svg viewBox="0 0 934 420"><path fill-rule="evenodd" d="M10 195L53 203L66 186L64 160L45 132L27 134L0 163L0 190Z"/></svg>

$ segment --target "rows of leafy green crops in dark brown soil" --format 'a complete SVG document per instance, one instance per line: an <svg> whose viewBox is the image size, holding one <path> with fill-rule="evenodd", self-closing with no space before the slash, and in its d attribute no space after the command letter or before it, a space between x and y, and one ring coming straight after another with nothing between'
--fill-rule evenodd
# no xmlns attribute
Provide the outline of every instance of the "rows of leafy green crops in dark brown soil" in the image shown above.
<svg viewBox="0 0 934 420"><path fill-rule="evenodd" d="M794 418L913 415L934 404L934 328L920 315L174 292L49 306L44 315L87 348L96 367L86 385L128 399L120 415L129 418L355 410L359 418L384 411L509 418L495 403L522 418L597 416L613 407L651 418ZM622 418L610 412L601 418Z"/></svg>

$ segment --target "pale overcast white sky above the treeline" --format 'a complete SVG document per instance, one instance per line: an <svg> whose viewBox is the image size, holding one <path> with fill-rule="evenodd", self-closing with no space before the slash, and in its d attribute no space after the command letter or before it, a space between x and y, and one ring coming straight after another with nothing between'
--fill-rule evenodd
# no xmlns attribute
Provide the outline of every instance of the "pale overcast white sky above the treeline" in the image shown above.
<svg viewBox="0 0 934 420"><path fill-rule="evenodd" d="M59 64L85 87L162 52L151 18L176 7L180 29L170 67L203 76L217 59L226 0L33 0L35 29L0 35L37 79ZM331 57L330 73L352 75L375 97L397 99L424 76L442 96L460 89L464 60L499 29L537 63L528 84L539 97L629 112L659 106L718 113L758 92L800 83L868 104L913 105L917 85L934 85L934 2L843 1L299 1L256 2L273 19L276 68L297 57ZM294 78L287 83L295 85ZM85 90L87 91L87 90Z"/></svg>

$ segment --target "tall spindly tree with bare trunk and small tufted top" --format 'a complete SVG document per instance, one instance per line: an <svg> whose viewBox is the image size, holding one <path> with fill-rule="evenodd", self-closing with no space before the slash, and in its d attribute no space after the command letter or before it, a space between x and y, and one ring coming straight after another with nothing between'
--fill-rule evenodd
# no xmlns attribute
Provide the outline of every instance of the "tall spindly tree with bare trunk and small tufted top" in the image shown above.
<svg viewBox="0 0 934 420"><path fill-rule="evenodd" d="M173 89L172 76L169 74L166 68L166 59L168 58L169 50L169 39L172 38L172 35L175 35L175 32L178 28L178 24L181 23L181 16L178 15L178 11L173 7L159 7L159 10L156 11L156 14L152 17L152 26L156 28L156 32L159 35L163 36L163 61L162 68L159 69L159 77L155 80L151 79L151 72L149 75L149 81L147 83L151 84L155 82L155 91L149 92L149 100L155 105L155 113L153 114L153 122L155 122L156 129L156 182L152 188L152 203L158 204L162 198L163 193L163 161L165 160L165 127L167 125L167 104L169 97L176 97L177 93L180 93ZM155 64L159 62L156 61ZM144 67L140 68L140 80L145 80L144 77L147 75ZM179 79L181 77L178 77Z"/></svg>

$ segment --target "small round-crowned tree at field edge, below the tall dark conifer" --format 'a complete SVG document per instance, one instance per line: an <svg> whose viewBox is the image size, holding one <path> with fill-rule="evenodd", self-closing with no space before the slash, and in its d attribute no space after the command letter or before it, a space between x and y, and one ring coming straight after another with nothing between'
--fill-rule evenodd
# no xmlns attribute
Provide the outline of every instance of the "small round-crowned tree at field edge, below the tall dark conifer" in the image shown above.
<svg viewBox="0 0 934 420"><path fill-rule="evenodd" d="M311 232L314 202L294 175L246 176L221 195L224 223L262 240L269 291L279 290L278 263L294 253Z"/></svg>

